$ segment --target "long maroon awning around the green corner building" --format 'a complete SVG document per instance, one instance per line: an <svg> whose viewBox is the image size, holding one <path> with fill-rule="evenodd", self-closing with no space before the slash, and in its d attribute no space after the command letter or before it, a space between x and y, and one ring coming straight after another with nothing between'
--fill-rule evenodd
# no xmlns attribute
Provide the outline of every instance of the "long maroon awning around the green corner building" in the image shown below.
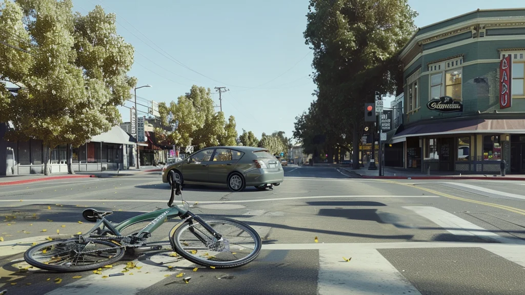
<svg viewBox="0 0 525 295"><path fill-rule="evenodd" d="M469 119L449 122L434 122L408 127L395 134L393 143L412 136L446 135L461 133L525 133L523 119Z"/></svg>

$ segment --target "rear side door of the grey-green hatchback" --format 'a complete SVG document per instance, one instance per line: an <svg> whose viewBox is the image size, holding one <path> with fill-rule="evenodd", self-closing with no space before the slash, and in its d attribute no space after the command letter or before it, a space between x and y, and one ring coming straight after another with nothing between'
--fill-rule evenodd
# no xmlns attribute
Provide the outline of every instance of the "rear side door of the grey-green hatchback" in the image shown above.
<svg viewBox="0 0 525 295"><path fill-rule="evenodd" d="M226 178L240 159L242 152L230 149L216 149L213 160L209 163L208 181L214 184L225 184Z"/></svg>

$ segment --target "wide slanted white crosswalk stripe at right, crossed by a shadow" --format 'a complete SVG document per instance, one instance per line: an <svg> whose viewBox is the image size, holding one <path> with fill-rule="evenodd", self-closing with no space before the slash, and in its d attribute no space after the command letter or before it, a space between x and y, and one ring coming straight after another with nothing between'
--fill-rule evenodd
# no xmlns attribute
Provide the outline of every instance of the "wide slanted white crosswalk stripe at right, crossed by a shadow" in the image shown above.
<svg viewBox="0 0 525 295"><path fill-rule="evenodd" d="M476 236L484 240L497 241L499 243L514 243L525 245L525 240L510 239L502 237L485 228L479 227L467 220L460 218L454 214L448 213L445 210L436 207L425 206L407 206L403 207L408 210L429 219L433 223L443 227L450 234L458 236Z"/></svg>

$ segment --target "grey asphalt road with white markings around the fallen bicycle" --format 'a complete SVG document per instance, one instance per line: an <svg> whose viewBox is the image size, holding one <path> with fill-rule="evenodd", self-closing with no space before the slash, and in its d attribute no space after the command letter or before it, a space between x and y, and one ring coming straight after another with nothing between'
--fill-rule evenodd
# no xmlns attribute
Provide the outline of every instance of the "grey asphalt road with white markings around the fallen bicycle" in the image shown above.
<svg viewBox="0 0 525 295"><path fill-rule="evenodd" d="M235 218L258 231L264 245L247 266L201 267L194 272L191 262L170 262L167 234L177 222L171 220L151 238L165 245L164 250L127 257L143 267L109 278L92 272L18 269L26 266L23 252L33 242L56 236L57 230L64 237L89 230L92 224L81 216L86 207L112 210L108 219L113 222L165 207L170 189L160 173L0 187L4 239L0 291L24 295L525 293L525 183L362 180L337 168L294 166L285 167L285 177L272 191L248 187L231 193L202 186L183 191L192 212ZM113 265L103 275L122 268ZM189 283L175 276L180 272L192 277ZM56 278L61 282L56 283Z"/></svg>

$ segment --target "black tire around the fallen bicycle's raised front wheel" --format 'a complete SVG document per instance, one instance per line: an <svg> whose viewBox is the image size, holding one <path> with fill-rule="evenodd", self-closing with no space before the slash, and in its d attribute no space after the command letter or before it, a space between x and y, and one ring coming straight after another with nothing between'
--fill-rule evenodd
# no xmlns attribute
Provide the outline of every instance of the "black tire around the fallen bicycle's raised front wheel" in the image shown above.
<svg viewBox="0 0 525 295"><path fill-rule="evenodd" d="M233 224L238 226L239 228L245 230L247 233L250 234L252 238L254 238L255 247L254 250L246 257L234 260L234 261L227 261L227 262L220 262L220 261L214 261L214 260L207 260L207 259L198 259L195 256L192 256L188 254L182 247L180 236L183 233L183 231L190 226L189 221L186 221L185 224L181 225L175 230L175 233L173 233L173 244L175 246L175 252L177 252L178 255L184 257L187 260L190 260L191 262L202 265L202 266L213 266L215 268L236 268L241 267L244 265L247 265L249 262L253 261L257 256L259 255L259 252L261 250L262 241L255 229L251 228L249 225L239 222L235 219L226 218L226 217L201 217L206 223L208 222L223 222L228 224ZM220 234L220 233L219 233Z"/></svg>

